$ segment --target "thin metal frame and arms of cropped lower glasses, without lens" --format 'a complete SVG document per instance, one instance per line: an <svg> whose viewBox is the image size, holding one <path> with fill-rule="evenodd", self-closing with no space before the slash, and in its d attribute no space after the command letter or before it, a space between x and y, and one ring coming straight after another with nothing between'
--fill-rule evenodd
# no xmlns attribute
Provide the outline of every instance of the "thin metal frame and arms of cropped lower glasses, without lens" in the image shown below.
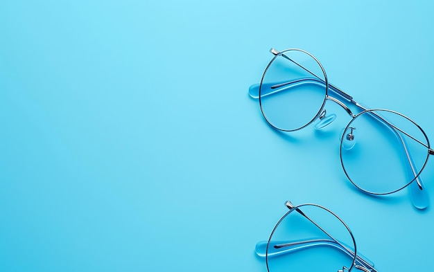
<svg viewBox="0 0 434 272"><path fill-rule="evenodd" d="M273 228L273 230L270 234L270 238L268 238L268 241L258 242L257 246L255 248L255 251L259 257L265 257L266 258L266 266L267 266L268 272L270 272L270 267L268 265L268 257L276 257L278 255L290 254L290 253L295 252L295 251L300 251L302 249L313 248L313 247L317 247L317 246L331 246L333 248L336 248L336 249L342 251L342 253L345 253L346 255L348 255L349 257L351 257L353 259L353 261L351 262L351 266L349 268L347 268L346 266L342 266L342 269L340 269L338 272L351 271L353 268L359 269L363 272L377 272L377 270L374 269L374 263L373 262L368 260L366 257L362 256L361 254L357 253L356 239L354 239L353 233L349 229L349 226L347 226L347 224L345 224L345 222L342 219L340 219L340 217L338 217L338 215L336 215L336 213L332 212L328 208L324 208L323 206L320 206L320 205L314 204L314 203L305 203L305 204L300 204L300 205L294 206L293 203L291 203L290 201L286 201L285 206L289 210L288 210L288 212L286 212L286 214L283 217L281 217L281 219L279 219L276 226ZM334 217L336 217L336 219L338 219L342 223L342 225L345 226L349 235L351 236L351 240L354 244L354 251L351 250L351 248L349 248L347 245L342 244L342 242L340 242L338 239L335 239L332 235L330 235L327 232L327 230L324 230L324 228L322 228L319 224L317 224L315 221L313 221L313 219L311 219L304 212L302 212L302 207L305 207L305 206L315 206L315 207L321 208L321 209L329 212ZM305 217L306 219L311 221L312 224L314 224L316 227L318 227L322 231L322 233L327 235L330 239L322 238L322 239L306 239L306 240L302 240L302 241L298 240L295 242L294 241L271 242L272 235L275 233L276 229L279 227L279 224L281 223L281 221L283 221L292 212L300 213L300 215L302 215L303 217ZM264 244L266 244L265 253L263 252ZM278 249L279 251L269 254L270 246L272 246L275 249Z"/></svg>

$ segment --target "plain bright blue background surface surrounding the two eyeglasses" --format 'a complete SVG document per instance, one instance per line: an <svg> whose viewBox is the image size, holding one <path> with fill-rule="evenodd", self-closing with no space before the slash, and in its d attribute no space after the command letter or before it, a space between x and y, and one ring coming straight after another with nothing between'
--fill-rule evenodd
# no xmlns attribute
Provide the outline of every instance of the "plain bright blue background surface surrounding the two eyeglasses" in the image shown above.
<svg viewBox="0 0 434 272"><path fill-rule="evenodd" d="M379 271L433 268L433 208L345 178L342 109L281 134L248 96L270 47L303 48L432 138L433 6L233 2L1 1L0 271L266 271L286 199L335 211ZM433 206L432 159L422 178Z"/></svg>

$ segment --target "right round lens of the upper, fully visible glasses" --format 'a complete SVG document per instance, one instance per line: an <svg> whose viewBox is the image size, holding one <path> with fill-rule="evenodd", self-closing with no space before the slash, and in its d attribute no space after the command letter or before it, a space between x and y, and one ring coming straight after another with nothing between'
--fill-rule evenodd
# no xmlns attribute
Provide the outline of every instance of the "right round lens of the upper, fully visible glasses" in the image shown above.
<svg viewBox="0 0 434 272"><path fill-rule="evenodd" d="M428 147L426 134L413 120L395 111L373 109L358 114L345 128L340 159L356 187L389 194L419 176L428 161Z"/></svg>

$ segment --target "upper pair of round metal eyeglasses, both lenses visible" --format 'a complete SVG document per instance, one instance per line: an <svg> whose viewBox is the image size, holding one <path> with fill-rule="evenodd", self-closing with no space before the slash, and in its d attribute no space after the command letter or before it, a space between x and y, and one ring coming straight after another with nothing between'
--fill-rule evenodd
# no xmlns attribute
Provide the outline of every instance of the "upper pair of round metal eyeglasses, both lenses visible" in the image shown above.
<svg viewBox="0 0 434 272"><path fill-rule="evenodd" d="M428 206L419 176L434 154L424 130L389 109L368 109L329 84L322 64L301 49L270 50L275 55L260 84L250 87L263 117L275 129L295 132L314 123L323 129L336 119L327 101L342 107L351 120L340 132L340 162L351 183L368 194L391 194L410 188L416 208Z"/></svg>

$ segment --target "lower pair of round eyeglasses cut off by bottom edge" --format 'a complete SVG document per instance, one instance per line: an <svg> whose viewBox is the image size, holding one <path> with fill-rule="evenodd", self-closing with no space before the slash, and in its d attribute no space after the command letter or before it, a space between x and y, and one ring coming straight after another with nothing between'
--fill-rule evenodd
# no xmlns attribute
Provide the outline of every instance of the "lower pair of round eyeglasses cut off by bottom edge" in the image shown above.
<svg viewBox="0 0 434 272"><path fill-rule="evenodd" d="M357 252L351 230L340 217L317 204L294 206L277 222L270 239L257 243L267 270L376 272L374 264Z"/></svg>

